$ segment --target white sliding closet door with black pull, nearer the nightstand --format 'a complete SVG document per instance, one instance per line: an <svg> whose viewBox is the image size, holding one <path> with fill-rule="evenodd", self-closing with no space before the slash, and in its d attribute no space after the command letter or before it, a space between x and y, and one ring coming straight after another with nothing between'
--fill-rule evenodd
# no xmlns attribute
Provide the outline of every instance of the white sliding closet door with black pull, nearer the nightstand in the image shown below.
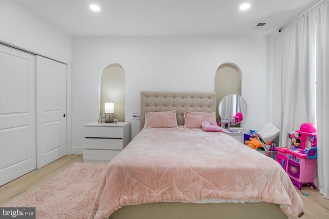
<svg viewBox="0 0 329 219"><path fill-rule="evenodd" d="M37 55L36 168L66 154L66 65Z"/></svg>

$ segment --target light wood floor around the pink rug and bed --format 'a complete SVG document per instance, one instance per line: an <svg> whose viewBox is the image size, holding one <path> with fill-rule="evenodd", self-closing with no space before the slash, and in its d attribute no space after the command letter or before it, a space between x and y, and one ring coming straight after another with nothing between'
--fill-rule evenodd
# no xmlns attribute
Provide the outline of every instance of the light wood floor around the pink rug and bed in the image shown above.
<svg viewBox="0 0 329 219"><path fill-rule="evenodd" d="M37 188L53 176L74 163L83 162L82 154L71 154L55 161L39 170L34 170L16 180L0 187L0 207L5 207L22 197L26 193ZM327 219L329 218L329 200L322 197L316 189L307 185L298 190L304 202L304 215L302 219ZM307 193L308 196L305 196Z"/></svg>

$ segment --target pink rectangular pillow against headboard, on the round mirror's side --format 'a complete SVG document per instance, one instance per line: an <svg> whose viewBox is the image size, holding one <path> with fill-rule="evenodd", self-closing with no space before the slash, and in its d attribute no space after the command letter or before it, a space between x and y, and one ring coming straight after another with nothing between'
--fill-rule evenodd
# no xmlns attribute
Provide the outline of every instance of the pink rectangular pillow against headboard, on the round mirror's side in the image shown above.
<svg viewBox="0 0 329 219"><path fill-rule="evenodd" d="M217 125L215 112L185 112L184 119L184 128L201 128L204 121Z"/></svg>

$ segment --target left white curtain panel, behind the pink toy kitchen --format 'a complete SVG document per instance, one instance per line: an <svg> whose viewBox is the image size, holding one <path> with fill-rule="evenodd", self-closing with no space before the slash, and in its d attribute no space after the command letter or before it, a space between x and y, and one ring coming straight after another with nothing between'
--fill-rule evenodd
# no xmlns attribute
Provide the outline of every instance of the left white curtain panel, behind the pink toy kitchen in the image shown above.
<svg viewBox="0 0 329 219"><path fill-rule="evenodd" d="M281 147L290 146L288 133L303 123L315 124L315 33L309 34L307 14L282 28Z"/></svg>

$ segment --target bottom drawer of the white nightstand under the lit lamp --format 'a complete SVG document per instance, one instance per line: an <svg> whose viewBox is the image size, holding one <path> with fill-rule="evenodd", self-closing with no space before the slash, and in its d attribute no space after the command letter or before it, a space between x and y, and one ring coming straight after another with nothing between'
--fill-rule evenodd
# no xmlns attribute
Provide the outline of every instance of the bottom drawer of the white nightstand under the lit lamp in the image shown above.
<svg viewBox="0 0 329 219"><path fill-rule="evenodd" d="M120 151L116 150L83 150L83 161L104 161L109 162L112 161L113 158L119 154Z"/></svg>

